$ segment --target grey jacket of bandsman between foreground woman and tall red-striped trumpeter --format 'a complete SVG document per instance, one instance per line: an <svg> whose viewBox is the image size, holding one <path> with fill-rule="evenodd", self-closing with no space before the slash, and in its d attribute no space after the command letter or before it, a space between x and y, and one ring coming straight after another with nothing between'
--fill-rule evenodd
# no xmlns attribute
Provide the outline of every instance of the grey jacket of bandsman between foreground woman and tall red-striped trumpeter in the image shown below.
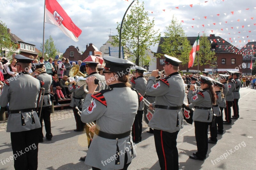
<svg viewBox="0 0 256 170"><path fill-rule="evenodd" d="M132 88L136 89L142 96L145 96L147 80L143 76L139 76L138 78L131 80ZM143 110L143 101L140 102L140 106L138 110Z"/></svg>

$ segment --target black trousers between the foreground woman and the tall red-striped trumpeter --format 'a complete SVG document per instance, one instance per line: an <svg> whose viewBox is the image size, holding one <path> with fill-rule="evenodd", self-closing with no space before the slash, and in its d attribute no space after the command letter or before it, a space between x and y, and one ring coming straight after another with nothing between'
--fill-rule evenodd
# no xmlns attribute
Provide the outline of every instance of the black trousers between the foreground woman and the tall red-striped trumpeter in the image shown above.
<svg viewBox="0 0 256 170"><path fill-rule="evenodd" d="M141 142L143 110L138 110L132 126L132 140L135 143Z"/></svg>

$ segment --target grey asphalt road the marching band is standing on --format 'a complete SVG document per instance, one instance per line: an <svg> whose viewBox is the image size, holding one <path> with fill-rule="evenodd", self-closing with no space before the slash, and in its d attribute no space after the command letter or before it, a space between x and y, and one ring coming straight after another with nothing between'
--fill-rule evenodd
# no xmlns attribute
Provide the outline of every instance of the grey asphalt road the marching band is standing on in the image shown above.
<svg viewBox="0 0 256 170"><path fill-rule="evenodd" d="M180 130L177 138L180 169L256 169L255 94L256 90L240 89L240 118L233 121L232 125L224 125L224 134L218 136L217 144L209 144L204 161L188 158L196 152L196 139L194 125L184 122L184 128ZM144 123L143 126L143 141L136 145L137 157L132 160L128 169L159 170L154 137L146 133L147 124ZM79 161L88 150L86 135L84 132L74 132L74 129L73 117L52 122L52 141L44 140L38 146L38 169L91 169ZM210 132L208 134L210 136ZM2 131L0 136L0 169L14 169L13 160L6 162L12 156L10 133Z"/></svg>

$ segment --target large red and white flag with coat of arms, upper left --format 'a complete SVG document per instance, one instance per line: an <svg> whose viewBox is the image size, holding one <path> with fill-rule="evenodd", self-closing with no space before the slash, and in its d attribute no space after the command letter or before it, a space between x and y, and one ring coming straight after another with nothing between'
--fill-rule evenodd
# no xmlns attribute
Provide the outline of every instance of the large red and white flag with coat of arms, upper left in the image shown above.
<svg viewBox="0 0 256 170"><path fill-rule="evenodd" d="M82 33L56 0L45 0L45 22L58 26L63 33L76 42Z"/></svg>

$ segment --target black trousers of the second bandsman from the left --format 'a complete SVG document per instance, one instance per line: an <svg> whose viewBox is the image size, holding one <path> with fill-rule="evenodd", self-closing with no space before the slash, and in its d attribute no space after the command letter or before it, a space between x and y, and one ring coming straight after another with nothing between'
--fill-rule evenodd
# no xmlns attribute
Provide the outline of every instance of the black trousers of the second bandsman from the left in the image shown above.
<svg viewBox="0 0 256 170"><path fill-rule="evenodd" d="M52 138L52 132L51 132L51 110L52 110L52 106L46 106L46 107L42 107L42 111L41 111L41 116L39 115L40 113L40 108L39 108L39 112L38 112L38 117L40 116L40 124L41 124L41 129L39 132L39 138L43 138L44 134L43 134L43 120L44 120L44 128L46 131L45 137L47 139L51 139Z"/></svg>

